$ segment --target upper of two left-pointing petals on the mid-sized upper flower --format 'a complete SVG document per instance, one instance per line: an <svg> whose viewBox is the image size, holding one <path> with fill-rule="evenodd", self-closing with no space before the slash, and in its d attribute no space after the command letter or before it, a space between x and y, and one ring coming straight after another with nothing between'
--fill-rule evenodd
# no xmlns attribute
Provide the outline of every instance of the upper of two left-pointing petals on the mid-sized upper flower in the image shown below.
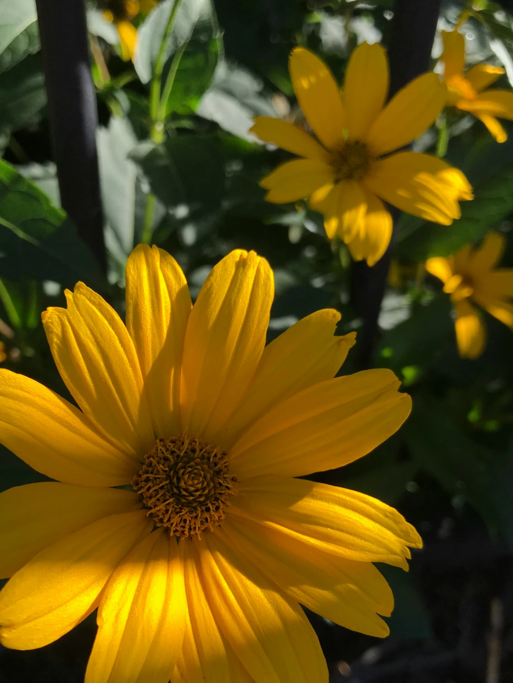
<svg viewBox="0 0 513 683"><path fill-rule="evenodd" d="M270 116L257 116L250 133L297 156L328 161L329 154L306 130Z"/></svg>

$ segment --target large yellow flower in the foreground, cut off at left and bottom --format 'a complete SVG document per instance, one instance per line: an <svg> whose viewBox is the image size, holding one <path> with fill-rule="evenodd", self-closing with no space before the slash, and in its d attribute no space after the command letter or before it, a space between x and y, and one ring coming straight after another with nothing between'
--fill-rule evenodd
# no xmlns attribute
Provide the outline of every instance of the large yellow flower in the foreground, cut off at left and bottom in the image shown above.
<svg viewBox="0 0 513 683"><path fill-rule="evenodd" d="M390 370L334 378L355 335L334 337L332 309L264 348L273 295L267 262L233 251L191 307L175 260L141 245L126 326L83 283L44 313L78 408L0 371L1 443L57 479L0 494L3 645L41 647L98 607L87 683L327 683L299 603L387 635L372 562L406 569L419 535L295 477L368 453L411 400Z"/></svg>

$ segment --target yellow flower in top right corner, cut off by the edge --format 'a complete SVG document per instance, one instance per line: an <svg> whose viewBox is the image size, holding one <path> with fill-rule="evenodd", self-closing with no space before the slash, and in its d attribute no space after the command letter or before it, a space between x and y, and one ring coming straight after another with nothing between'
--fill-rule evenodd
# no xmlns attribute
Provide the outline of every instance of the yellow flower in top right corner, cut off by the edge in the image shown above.
<svg viewBox="0 0 513 683"><path fill-rule="evenodd" d="M473 114L484 123L497 142L504 142L508 135L497 121L513 120L513 92L510 90L486 90L504 73L500 66L477 64L465 75L465 38L458 31L442 31L444 64L443 80L447 86L447 103L460 111Z"/></svg>

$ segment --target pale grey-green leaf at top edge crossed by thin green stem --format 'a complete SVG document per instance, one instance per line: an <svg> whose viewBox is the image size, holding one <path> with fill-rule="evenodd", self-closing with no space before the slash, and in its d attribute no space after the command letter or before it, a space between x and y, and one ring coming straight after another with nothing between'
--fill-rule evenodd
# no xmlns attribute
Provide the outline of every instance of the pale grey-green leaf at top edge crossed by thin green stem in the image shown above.
<svg viewBox="0 0 513 683"><path fill-rule="evenodd" d="M138 29L138 46L134 62L136 72L143 83L148 83L153 74L160 45L169 15L175 0L164 0L148 14ZM177 10L173 30L169 33L164 48L164 61L168 61L192 36L197 23L211 23L211 0L185 0Z"/></svg>

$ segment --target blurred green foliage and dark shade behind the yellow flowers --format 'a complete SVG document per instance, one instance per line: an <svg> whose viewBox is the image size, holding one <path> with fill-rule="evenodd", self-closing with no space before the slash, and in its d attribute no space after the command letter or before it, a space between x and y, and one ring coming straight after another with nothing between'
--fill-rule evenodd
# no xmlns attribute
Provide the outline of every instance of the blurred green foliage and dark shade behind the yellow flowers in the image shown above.
<svg viewBox="0 0 513 683"><path fill-rule="evenodd" d="M342 313L340 333L362 324L351 309L346 247L327 242L322 217L306 204L263 201L259 180L289 155L259 143L248 129L255 115L302 123L287 70L293 46L308 46L342 79L353 46L387 45L394 1L187 0L159 55L172 5L132 2L133 63L116 23L126 3L88 5L105 277L59 208L35 3L0 0L2 367L68 398L40 313L63 305L63 288L81 279L123 315L124 266L140 241L175 256L193 296L231 249L267 257L276 276L269 339L323 307ZM513 3L445 1L439 30L452 29L465 8L471 10L463 26L467 63L503 66L497 85L510 88ZM440 53L437 33L433 66ZM151 95L156 64L163 84L158 101ZM392 368L411 393L409 421L366 458L316 477L397 506L426 544L413 555L409 574L383 568L396 594L390 639L312 615L334 682L513 680L513 335L487 316L484 354L460 359L450 301L423 267L426 258L478 243L490 229L508 238L502 264L513 266L513 125L505 126L510 137L500 145L471 116L450 128L448 161L475 190L460 220L445 227L399 219L372 365ZM433 153L436 144L433 127L414 149ZM351 353L341 372L351 372ZM43 478L0 451L0 490ZM40 651L0 646L0 682L82 680L94 628L87 619ZM500 679L490 678L497 647Z"/></svg>

